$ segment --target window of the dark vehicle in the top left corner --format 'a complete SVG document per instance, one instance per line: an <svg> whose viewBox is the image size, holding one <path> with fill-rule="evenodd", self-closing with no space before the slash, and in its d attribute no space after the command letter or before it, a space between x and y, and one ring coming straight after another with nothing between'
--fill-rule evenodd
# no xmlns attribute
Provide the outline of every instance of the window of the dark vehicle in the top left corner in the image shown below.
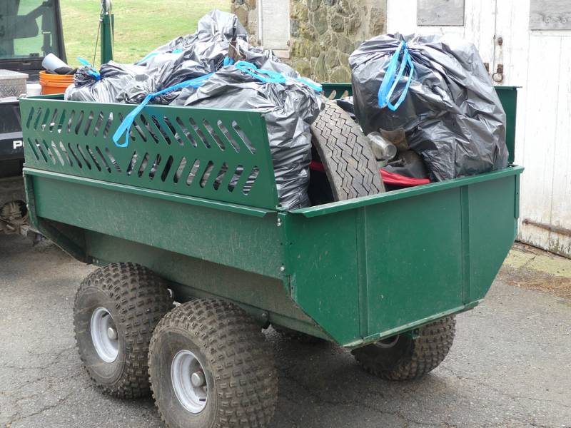
<svg viewBox="0 0 571 428"><path fill-rule="evenodd" d="M0 59L59 56L54 0L0 0Z"/></svg>

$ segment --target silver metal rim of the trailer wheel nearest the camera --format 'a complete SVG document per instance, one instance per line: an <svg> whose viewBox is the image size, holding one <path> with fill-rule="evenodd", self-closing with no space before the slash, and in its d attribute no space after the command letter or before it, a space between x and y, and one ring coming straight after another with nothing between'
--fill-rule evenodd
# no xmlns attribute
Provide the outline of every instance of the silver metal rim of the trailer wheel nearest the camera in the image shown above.
<svg viewBox="0 0 571 428"><path fill-rule="evenodd" d="M200 413L208 400L208 382L198 358L188 350L173 357L171 381L176 398L191 413Z"/></svg>

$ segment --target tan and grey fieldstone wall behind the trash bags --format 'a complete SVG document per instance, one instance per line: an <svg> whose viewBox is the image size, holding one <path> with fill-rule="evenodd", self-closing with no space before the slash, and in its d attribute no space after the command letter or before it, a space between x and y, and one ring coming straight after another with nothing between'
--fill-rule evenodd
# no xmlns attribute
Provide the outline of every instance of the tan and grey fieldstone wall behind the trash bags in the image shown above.
<svg viewBox="0 0 571 428"><path fill-rule="evenodd" d="M232 11L258 41L256 0L231 0ZM287 0L276 0L287 1ZM290 59L315 81L350 81L349 55L385 33L386 0L289 0Z"/></svg>

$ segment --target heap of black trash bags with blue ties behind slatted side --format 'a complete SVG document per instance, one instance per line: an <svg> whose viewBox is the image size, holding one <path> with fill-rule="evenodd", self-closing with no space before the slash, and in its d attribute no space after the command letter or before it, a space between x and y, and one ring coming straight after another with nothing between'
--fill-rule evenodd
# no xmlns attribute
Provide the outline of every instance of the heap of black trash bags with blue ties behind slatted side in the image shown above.
<svg viewBox="0 0 571 428"><path fill-rule="evenodd" d="M323 108L320 91L271 51L248 44L235 15L211 11L196 33L174 39L136 64L110 61L100 71L79 68L65 99L263 111L279 203L295 209L310 205L310 125ZM118 146L127 144L128 129L126 142Z"/></svg>

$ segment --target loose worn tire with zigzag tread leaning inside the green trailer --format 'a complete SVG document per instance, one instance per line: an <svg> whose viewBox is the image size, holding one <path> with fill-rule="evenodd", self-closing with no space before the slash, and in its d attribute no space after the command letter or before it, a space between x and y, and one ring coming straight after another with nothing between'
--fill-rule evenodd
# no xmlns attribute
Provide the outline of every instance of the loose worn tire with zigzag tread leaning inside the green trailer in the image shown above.
<svg viewBox="0 0 571 428"><path fill-rule="evenodd" d="M335 200L385 192L367 137L335 101L327 101L311 125L311 143L325 167Z"/></svg>

